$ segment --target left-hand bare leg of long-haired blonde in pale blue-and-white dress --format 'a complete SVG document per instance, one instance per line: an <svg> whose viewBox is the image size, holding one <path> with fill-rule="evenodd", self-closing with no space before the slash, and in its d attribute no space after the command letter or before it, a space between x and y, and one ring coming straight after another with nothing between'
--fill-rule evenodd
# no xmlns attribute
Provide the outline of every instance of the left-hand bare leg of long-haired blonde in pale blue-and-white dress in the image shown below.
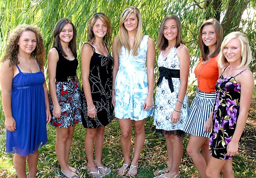
<svg viewBox="0 0 256 178"><path fill-rule="evenodd" d="M120 128L121 128L121 147L122 152L124 154L124 164L130 164L130 153L131 153L131 129L132 129L132 121L131 119L118 119ZM119 174L124 172L124 167L120 167L118 170Z"/></svg>

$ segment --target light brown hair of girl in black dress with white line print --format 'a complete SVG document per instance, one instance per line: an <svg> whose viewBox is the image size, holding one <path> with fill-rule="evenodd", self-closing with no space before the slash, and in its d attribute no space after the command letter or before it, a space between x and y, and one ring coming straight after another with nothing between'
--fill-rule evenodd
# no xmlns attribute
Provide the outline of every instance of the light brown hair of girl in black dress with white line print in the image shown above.
<svg viewBox="0 0 256 178"><path fill-rule="evenodd" d="M87 28L87 40L92 41L92 43L95 42L95 36L93 33L93 25L96 23L96 20L100 19L108 28L107 34L103 37L103 41L106 43L109 43L112 38L112 28L111 23L108 18L108 16L102 12L95 13L93 16L90 17L90 19L87 22L88 28Z"/></svg>

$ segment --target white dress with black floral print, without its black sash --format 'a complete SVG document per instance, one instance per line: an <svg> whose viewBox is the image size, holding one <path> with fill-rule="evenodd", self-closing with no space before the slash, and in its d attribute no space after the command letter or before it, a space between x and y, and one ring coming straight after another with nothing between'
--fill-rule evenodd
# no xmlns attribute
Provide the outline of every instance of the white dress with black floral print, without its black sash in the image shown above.
<svg viewBox="0 0 256 178"><path fill-rule="evenodd" d="M158 67L165 67L169 69L180 69L180 60L177 57L177 48L173 47L168 56L163 59L163 51L160 53L157 60ZM169 88L168 79L163 77L160 85L157 86L155 96L155 113L154 125L156 129L161 130L184 130L186 120L189 112L189 103L187 95L184 97L183 105L180 113L180 120L172 124L171 115L175 109L178 94L180 90L180 78L172 78L174 91L171 92Z"/></svg>

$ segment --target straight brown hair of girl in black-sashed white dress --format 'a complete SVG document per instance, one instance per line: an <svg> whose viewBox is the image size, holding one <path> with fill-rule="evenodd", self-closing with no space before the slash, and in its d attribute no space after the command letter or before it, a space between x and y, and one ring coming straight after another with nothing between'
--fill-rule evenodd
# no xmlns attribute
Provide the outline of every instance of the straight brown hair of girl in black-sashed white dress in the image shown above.
<svg viewBox="0 0 256 178"><path fill-rule="evenodd" d="M183 44L182 27L181 27L181 22L180 22L179 17L177 15L167 15L166 17L164 17L164 19L162 20L162 22L160 24L158 40L157 40L157 48L159 50L164 50L168 46L168 40L163 35L163 28L164 28L164 25L166 24L166 21L170 20L170 19L174 19L176 21L177 27L178 27L175 47L178 48L180 46L180 44Z"/></svg>

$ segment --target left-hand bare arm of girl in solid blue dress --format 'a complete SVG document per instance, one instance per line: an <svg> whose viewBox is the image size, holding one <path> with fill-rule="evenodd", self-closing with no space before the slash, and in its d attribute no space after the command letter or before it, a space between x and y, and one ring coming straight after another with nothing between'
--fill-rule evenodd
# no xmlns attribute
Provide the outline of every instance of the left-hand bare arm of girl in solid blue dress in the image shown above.
<svg viewBox="0 0 256 178"><path fill-rule="evenodd" d="M16 129L16 121L12 117L12 105L11 105L11 92L12 92L12 79L13 79L13 68L9 67L9 60L3 62L0 68L0 84L2 90L2 105L4 114L6 117L5 125L6 129L13 132Z"/></svg>

